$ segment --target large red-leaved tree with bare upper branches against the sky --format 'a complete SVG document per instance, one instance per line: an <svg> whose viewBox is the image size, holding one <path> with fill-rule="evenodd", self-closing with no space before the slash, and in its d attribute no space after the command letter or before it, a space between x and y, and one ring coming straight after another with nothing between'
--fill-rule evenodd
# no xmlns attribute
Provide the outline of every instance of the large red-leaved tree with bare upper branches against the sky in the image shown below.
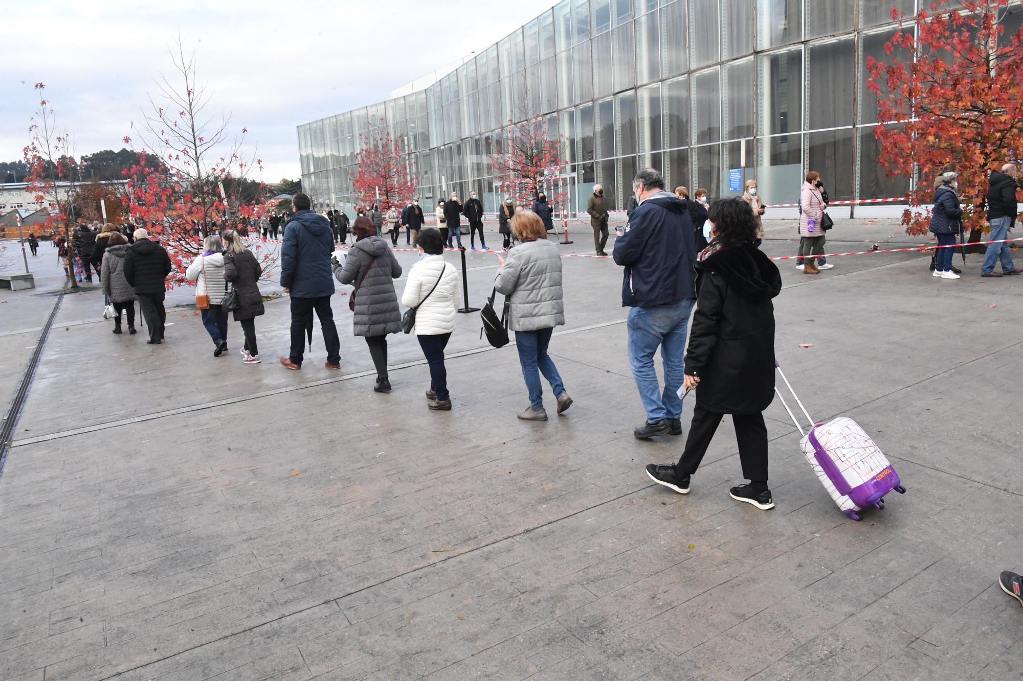
<svg viewBox="0 0 1023 681"><path fill-rule="evenodd" d="M256 150L244 145L249 129L232 136L230 117L215 119L206 111L211 95L198 83L194 52L185 54L180 37L168 52L177 84L164 74L157 79L159 94L149 95L140 124L132 124L142 149L125 176L132 220L148 229L171 258L171 288L188 283L185 269L202 252L203 235L229 227L244 236L264 207L262 197L253 200L248 177L262 170ZM131 137L124 142L131 144ZM253 247L269 279L276 256L260 244Z"/></svg>

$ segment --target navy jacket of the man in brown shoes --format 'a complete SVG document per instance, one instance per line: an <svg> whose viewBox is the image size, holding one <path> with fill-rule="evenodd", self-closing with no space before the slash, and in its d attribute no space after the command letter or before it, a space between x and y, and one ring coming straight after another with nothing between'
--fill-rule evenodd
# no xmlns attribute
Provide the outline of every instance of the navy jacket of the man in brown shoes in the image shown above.
<svg viewBox="0 0 1023 681"><path fill-rule="evenodd" d="M280 285L292 298L323 298L333 294L330 254L333 232L330 223L312 211L299 211L287 221L280 244Z"/></svg>

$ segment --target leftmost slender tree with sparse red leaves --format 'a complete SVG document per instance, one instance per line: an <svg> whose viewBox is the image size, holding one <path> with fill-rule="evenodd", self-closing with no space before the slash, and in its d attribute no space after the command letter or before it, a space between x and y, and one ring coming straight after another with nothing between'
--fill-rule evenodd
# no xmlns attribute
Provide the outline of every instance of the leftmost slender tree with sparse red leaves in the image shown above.
<svg viewBox="0 0 1023 681"><path fill-rule="evenodd" d="M46 88L36 83L39 93L39 109L29 123L29 144L23 149L25 164L29 168L26 192L33 194L37 202L49 213L42 229L49 231L56 227L63 229L68 248L69 279L71 287L78 288L75 277L75 239L72 227L75 224L75 208L70 196L75 193L78 168L75 161L73 137L68 131L58 132L56 117L50 103L43 96Z"/></svg>

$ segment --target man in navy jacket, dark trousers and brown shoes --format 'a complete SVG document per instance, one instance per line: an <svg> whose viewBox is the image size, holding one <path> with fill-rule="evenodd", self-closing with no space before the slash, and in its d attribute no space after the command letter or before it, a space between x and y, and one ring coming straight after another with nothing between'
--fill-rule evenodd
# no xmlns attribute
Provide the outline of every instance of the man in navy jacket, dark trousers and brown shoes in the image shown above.
<svg viewBox="0 0 1023 681"><path fill-rule="evenodd" d="M302 368L303 336L307 328L312 333L315 311L326 346L326 368L340 369L341 339L330 309L333 296L330 223L310 210L312 203L304 193L295 194L292 203L298 213L287 221L280 244L280 285L292 297L292 351L288 357L280 358L280 363L293 371Z"/></svg>

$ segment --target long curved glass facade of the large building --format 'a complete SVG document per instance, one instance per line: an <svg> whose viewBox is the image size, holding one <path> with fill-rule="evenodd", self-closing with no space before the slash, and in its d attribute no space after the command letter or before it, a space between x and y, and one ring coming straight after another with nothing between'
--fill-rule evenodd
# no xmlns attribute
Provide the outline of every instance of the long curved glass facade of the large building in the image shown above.
<svg viewBox="0 0 1023 681"><path fill-rule="evenodd" d="M350 209L360 135L386 127L427 207L476 189L493 211L488 154L509 121L540 116L562 140L551 182L572 213L596 182L624 209L644 167L712 197L752 178L766 202L792 203L807 170L834 200L901 196L909 181L877 163L866 61L890 59L892 6L910 16L920 2L562 0L424 90L299 126L303 186L317 208Z"/></svg>

